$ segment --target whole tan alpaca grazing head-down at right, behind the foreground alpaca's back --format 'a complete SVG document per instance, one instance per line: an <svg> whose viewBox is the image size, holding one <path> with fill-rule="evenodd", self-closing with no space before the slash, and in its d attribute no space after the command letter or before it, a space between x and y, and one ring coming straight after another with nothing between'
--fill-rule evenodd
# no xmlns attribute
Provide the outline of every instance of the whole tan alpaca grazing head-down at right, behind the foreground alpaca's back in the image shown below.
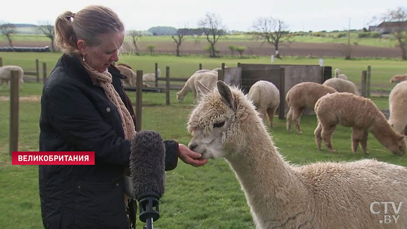
<svg viewBox="0 0 407 229"><path fill-rule="evenodd" d="M358 145L364 153L367 151L368 132L393 154L399 156L405 152L405 136L397 133L387 123L383 113L370 100L351 93L334 93L321 97L315 104L318 118L315 141L321 150L322 139L331 151L332 133L336 125L352 127L352 151L357 152ZM406 190L407 193L407 190Z"/></svg>

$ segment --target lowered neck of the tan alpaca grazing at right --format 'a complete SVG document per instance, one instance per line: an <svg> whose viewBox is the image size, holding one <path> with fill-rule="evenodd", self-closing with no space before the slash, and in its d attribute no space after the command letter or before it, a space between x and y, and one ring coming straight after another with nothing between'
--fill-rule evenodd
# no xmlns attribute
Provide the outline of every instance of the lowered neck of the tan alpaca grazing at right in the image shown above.
<svg viewBox="0 0 407 229"><path fill-rule="evenodd" d="M376 117L376 122L373 122L370 130L372 134L384 147L389 148L392 146L394 139L398 137L398 133L387 123L386 118L383 116Z"/></svg>

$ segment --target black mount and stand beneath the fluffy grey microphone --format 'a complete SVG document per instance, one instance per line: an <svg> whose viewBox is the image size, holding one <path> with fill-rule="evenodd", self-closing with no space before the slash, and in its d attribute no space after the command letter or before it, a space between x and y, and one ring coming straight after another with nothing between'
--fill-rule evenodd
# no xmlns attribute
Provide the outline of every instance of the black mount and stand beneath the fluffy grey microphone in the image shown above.
<svg viewBox="0 0 407 229"><path fill-rule="evenodd" d="M140 221L146 223L143 227L144 229L156 229L153 226L153 222L160 218L158 199L160 199L160 196L155 192L142 193L137 198L140 209Z"/></svg>

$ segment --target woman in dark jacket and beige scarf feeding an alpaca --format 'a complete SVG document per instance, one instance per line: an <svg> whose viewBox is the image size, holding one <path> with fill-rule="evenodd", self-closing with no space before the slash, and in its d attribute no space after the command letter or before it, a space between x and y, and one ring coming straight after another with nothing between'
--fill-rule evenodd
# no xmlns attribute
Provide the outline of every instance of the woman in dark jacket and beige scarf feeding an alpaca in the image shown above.
<svg viewBox="0 0 407 229"><path fill-rule="evenodd" d="M45 228L129 228L123 173L129 166L135 116L112 63L125 37L111 9L89 6L55 21L64 54L44 84L40 151L94 151L95 165L40 165ZM201 166L200 154L165 141L165 169Z"/></svg>

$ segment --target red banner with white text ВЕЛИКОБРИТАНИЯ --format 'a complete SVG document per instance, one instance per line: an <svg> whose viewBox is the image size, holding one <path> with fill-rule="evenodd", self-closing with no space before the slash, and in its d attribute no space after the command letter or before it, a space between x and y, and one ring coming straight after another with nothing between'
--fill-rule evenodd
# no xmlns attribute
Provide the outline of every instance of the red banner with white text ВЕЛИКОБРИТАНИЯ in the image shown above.
<svg viewBox="0 0 407 229"><path fill-rule="evenodd" d="M12 152L13 165L94 165L95 152Z"/></svg>

